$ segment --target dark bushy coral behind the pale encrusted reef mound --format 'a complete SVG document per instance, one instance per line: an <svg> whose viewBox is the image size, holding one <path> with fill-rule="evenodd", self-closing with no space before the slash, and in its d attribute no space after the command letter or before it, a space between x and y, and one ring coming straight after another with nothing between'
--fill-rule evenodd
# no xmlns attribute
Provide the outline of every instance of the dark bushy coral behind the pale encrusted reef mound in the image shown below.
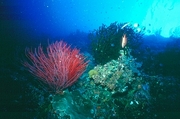
<svg viewBox="0 0 180 119"><path fill-rule="evenodd" d="M103 65L112 59L116 60L120 50L126 53L128 48L131 48L132 52L135 52L142 44L142 36L143 30L136 31L130 23L124 25L115 22L110 26L100 26L99 29L89 34L95 63Z"/></svg>

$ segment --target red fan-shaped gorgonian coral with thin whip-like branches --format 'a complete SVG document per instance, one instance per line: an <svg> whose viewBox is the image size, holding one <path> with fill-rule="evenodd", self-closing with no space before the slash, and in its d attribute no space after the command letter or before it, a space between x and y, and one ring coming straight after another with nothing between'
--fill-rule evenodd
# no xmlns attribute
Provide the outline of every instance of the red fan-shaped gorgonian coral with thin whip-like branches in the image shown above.
<svg viewBox="0 0 180 119"><path fill-rule="evenodd" d="M78 49L71 49L63 41L50 44L47 52L41 46L34 52L27 49L26 56L29 62L25 61L24 66L56 93L75 83L88 63Z"/></svg>

